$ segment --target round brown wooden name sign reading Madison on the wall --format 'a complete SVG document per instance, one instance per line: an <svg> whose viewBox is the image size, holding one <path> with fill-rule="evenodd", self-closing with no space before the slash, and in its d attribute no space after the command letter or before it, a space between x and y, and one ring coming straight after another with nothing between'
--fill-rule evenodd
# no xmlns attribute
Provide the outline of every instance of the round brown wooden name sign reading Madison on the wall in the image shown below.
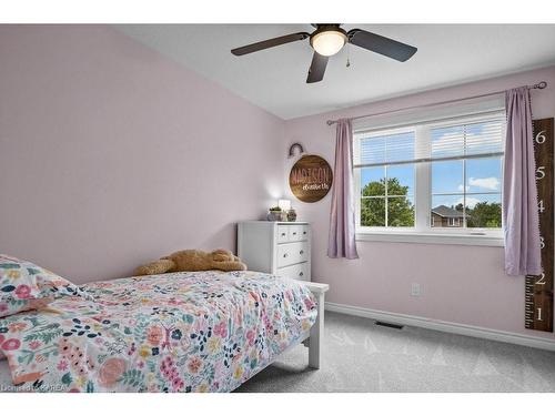
<svg viewBox="0 0 555 416"><path fill-rule="evenodd" d="M316 202L327 195L332 187L333 172L330 164L320 156L302 156L291 169L289 186L302 202Z"/></svg>

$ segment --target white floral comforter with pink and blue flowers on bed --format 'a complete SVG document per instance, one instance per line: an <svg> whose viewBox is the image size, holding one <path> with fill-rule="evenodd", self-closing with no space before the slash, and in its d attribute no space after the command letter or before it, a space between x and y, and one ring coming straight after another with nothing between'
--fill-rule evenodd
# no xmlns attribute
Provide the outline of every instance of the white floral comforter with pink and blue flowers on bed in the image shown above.
<svg viewBox="0 0 555 416"><path fill-rule="evenodd" d="M0 318L13 383L31 392L231 392L306 336L310 291L254 272L129 277Z"/></svg>

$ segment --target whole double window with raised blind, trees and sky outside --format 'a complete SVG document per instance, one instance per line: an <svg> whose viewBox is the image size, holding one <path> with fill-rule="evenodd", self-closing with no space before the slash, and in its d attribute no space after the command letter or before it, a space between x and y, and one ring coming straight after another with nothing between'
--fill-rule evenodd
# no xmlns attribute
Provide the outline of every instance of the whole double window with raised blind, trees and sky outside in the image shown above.
<svg viewBox="0 0 555 416"><path fill-rule="evenodd" d="M501 237L504 112L355 130L357 233Z"/></svg>

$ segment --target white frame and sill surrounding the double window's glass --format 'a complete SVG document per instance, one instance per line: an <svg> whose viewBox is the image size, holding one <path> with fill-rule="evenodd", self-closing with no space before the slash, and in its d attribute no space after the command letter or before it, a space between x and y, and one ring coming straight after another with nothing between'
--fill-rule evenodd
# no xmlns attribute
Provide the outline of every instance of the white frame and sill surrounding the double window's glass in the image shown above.
<svg viewBox="0 0 555 416"><path fill-rule="evenodd" d="M360 129L353 131L353 155L356 161L360 156L360 139L362 135L369 138L372 135L389 135L404 132L415 132L416 141L427 141L430 143L431 131L433 128L444 125L455 125L461 123L475 123L492 120L493 118L504 115L501 111L496 114L490 112L487 115L457 116L450 121L414 123L403 128L380 128L375 130ZM455 121L455 123L454 123ZM504 131L502 134L504 135ZM416 145L416 142L415 142ZM354 169L354 194L355 194L355 226L357 241L379 241L379 242L406 242L425 244L461 244L461 245L485 245L503 246L502 229L466 229L457 226L432 227L432 175L431 164L433 162L421 162L414 164L414 185L413 199L415 206L414 227L369 227L361 225L361 171ZM503 180L503 172L502 172Z"/></svg>

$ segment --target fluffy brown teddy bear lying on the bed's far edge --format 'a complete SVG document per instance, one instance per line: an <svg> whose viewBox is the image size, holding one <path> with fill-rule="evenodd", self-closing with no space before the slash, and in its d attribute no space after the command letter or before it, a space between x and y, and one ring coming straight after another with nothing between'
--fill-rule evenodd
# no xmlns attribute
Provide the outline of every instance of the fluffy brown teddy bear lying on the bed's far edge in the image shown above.
<svg viewBox="0 0 555 416"><path fill-rule="evenodd" d="M172 272L200 272L220 270L224 272L245 271L246 264L228 250L206 253L200 250L182 250L169 256L143 264L135 270L137 276Z"/></svg>

